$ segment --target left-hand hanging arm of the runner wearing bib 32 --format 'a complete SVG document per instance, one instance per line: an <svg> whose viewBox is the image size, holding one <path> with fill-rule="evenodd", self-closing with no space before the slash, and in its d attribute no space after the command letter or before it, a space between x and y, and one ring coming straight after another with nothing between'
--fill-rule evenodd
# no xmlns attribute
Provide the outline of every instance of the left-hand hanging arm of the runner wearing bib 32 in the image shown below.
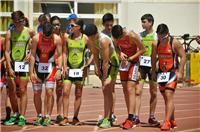
<svg viewBox="0 0 200 132"><path fill-rule="evenodd" d="M35 64L36 49L38 45L39 34L35 35L32 39L31 56L30 56L30 75L32 76Z"/></svg>

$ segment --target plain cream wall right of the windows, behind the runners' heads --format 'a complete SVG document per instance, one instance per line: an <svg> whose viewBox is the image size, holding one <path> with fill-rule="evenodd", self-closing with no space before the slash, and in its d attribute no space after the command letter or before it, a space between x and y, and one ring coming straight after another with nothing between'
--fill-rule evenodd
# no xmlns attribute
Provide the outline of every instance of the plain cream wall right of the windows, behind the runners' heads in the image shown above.
<svg viewBox="0 0 200 132"><path fill-rule="evenodd" d="M120 23L136 32L142 30L140 18L151 13L155 18L154 29L166 23L173 35L200 33L200 3L197 2L122 2L123 15ZM121 14L122 14L121 13Z"/></svg>

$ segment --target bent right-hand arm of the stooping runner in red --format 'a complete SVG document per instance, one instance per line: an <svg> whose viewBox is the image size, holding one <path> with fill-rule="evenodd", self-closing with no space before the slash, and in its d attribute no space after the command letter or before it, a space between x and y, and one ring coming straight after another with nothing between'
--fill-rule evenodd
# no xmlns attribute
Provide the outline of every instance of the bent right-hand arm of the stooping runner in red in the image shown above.
<svg viewBox="0 0 200 132"><path fill-rule="evenodd" d="M130 35L132 44L135 43L137 45L137 48L139 49L136 54L129 57L129 60L134 60L135 58L138 58L140 55L144 54L146 49L145 49L144 45L142 44L140 37L136 33L130 32L129 35Z"/></svg>

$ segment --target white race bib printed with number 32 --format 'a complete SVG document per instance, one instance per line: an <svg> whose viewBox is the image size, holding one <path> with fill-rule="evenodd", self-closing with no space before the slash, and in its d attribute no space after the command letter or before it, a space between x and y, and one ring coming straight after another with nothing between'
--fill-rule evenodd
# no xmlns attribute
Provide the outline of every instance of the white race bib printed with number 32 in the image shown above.
<svg viewBox="0 0 200 132"><path fill-rule="evenodd" d="M39 63L39 73L50 73L52 71L52 63Z"/></svg>

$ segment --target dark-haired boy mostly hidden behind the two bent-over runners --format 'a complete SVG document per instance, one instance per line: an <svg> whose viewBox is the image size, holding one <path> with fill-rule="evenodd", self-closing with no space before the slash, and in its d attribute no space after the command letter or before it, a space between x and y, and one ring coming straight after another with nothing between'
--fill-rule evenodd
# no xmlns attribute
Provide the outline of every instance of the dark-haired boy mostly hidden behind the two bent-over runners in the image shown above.
<svg viewBox="0 0 200 132"><path fill-rule="evenodd" d="M102 33L108 35L111 38L111 36L112 36L112 27L113 27L113 23L114 23L113 15L111 13L104 14L104 16L102 18L102 22L103 22L103 26L104 26L104 29L102 30ZM116 124L117 117L114 114L114 108L115 108L115 102L116 102L115 88L113 88L112 95L113 95L113 107L112 107L112 116L111 116L111 118L112 118L112 123Z"/></svg>

